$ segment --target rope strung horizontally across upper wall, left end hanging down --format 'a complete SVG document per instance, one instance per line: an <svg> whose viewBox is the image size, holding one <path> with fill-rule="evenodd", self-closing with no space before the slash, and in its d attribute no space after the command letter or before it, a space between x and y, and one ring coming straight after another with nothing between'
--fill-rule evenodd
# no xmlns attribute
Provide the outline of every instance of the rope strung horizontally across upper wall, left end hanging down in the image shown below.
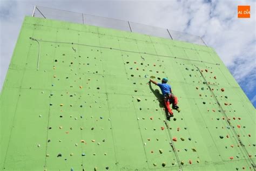
<svg viewBox="0 0 256 171"><path fill-rule="evenodd" d="M35 41L38 43L38 46L39 46L39 47L38 47L38 48L39 48L39 52L38 52L37 70L38 70L38 67L39 67L39 56L40 56L40 44L39 44L39 42L72 44L72 45L81 45L81 46L89 46L89 47L98 47L98 48L103 48L103 49L111 49L111 50L117 50L117 51L123 51L123 52L131 52L131 53L139 53L139 54L142 54L142 53L143 53L143 52L136 52L136 51L129 51L129 50L117 49L117 48L112 48L112 47L95 46L95 45L80 44L80 43L72 43L72 42L55 42L55 41L50 41L50 40L36 39L36 38L32 38L32 37L30 37L30 39L31 39L31 40L35 40ZM203 60L193 60L193 59L186 59L186 58L173 57L173 56L165 56L165 55L161 55L161 54L153 54L153 53L146 53L146 52L144 52L143 54L149 54L149 55L158 56L158 57L167 57L167 58L188 60L188 61L197 61L197 62L200 62L200 63L206 63L206 64L212 64L212 65L220 65L220 64L209 63L209 62L203 61ZM142 59L144 59L144 58L142 57Z"/></svg>

